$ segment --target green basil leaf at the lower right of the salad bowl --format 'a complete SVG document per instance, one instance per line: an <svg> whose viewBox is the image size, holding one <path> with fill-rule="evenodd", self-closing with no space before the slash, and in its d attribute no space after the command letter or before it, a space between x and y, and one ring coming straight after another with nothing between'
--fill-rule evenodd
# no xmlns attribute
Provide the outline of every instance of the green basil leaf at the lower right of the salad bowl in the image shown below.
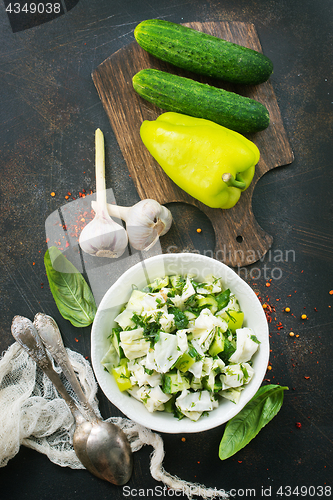
<svg viewBox="0 0 333 500"><path fill-rule="evenodd" d="M220 443L221 460L231 457L246 446L280 410L288 387L264 385L226 425Z"/></svg>

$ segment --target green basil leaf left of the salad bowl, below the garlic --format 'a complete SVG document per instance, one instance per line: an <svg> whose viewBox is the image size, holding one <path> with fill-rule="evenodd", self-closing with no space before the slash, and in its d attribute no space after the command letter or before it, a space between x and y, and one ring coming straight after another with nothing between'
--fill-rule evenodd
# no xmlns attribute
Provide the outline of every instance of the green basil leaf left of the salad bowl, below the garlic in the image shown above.
<svg viewBox="0 0 333 500"><path fill-rule="evenodd" d="M44 265L51 293L62 317L73 326L89 326L97 308L82 274L54 246L46 251Z"/></svg>

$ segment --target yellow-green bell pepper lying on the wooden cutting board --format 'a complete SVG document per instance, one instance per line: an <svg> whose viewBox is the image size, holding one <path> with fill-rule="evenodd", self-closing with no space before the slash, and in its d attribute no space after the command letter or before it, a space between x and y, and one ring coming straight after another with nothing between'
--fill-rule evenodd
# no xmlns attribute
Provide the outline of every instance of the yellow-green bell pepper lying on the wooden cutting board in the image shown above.
<svg viewBox="0 0 333 500"><path fill-rule="evenodd" d="M231 208L251 184L260 153L238 132L168 112L145 120L141 139L181 189L212 208Z"/></svg>

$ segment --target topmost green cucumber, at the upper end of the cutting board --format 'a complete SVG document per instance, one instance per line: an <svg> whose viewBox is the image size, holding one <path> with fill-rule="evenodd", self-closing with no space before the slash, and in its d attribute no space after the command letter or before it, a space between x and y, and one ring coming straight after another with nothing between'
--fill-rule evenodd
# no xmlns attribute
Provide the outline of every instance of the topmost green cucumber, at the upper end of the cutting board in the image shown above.
<svg viewBox="0 0 333 500"><path fill-rule="evenodd" d="M273 71L272 61L256 50L170 21L142 21L134 36L144 50L162 61L227 82L258 85Z"/></svg>

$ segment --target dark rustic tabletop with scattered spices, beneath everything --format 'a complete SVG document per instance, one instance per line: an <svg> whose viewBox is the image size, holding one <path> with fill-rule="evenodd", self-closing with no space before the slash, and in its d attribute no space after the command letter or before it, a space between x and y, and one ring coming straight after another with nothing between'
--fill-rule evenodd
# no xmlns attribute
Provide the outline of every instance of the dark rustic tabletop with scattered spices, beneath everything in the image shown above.
<svg viewBox="0 0 333 500"><path fill-rule="evenodd" d="M66 203L69 192L79 199L84 190L94 190L97 127L105 134L107 176L118 203L139 200L91 73L133 41L133 30L143 19L253 23L274 63L270 81L295 160L267 173L256 186L254 213L273 244L259 261L236 271L269 306L272 352L266 382L289 391L269 425L224 462L218 458L224 426L197 435L162 435L164 467L182 479L231 490L235 498L331 497L332 3L61 0L60 7L49 20L42 14L19 15L7 0L0 5L1 352L13 343L14 315L32 318L43 311L56 319L67 347L90 356L90 328L78 330L59 314L43 256L47 217ZM214 248L206 216L179 203L169 208L174 225L162 240L163 251L170 245L200 253ZM98 397L104 418L120 414L101 392ZM171 496L150 475L151 452L145 447L135 454L134 473L124 490L21 447L0 469L0 498Z"/></svg>

